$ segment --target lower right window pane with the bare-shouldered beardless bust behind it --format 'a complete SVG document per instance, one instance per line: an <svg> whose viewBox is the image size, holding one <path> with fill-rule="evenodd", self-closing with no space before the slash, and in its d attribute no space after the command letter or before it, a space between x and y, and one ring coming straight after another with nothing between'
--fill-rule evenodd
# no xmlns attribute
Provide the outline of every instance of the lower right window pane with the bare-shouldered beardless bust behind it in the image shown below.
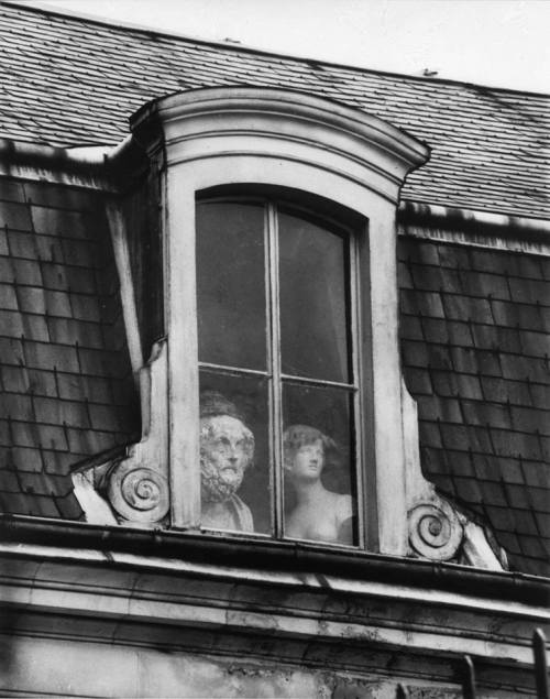
<svg viewBox="0 0 550 699"><path fill-rule="evenodd" d="M283 386L285 536L356 544L352 393Z"/></svg>

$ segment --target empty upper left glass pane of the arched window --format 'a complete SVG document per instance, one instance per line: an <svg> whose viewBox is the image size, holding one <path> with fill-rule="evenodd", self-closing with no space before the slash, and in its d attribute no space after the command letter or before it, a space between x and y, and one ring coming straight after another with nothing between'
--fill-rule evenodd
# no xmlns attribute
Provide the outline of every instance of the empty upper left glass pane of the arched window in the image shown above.
<svg viewBox="0 0 550 699"><path fill-rule="evenodd" d="M198 203L199 361L266 368L264 209Z"/></svg>

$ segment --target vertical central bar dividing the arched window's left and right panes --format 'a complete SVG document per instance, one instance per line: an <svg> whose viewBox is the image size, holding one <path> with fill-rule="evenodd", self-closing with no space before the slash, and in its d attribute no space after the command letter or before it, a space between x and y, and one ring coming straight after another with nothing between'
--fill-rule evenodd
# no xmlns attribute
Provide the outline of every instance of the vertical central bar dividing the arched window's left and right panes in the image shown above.
<svg viewBox="0 0 550 699"><path fill-rule="evenodd" d="M280 320L278 288L278 226L277 209L273 204L266 205L267 234L267 288L270 314L270 364L272 381L271 396L271 443L272 443L272 514L276 538L283 536L283 407L280 383Z"/></svg>

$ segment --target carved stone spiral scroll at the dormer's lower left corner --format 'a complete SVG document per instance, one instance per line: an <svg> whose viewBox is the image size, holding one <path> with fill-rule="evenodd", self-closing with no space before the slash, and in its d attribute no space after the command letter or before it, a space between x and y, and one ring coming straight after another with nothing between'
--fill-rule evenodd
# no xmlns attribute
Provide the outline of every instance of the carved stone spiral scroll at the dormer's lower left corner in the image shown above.
<svg viewBox="0 0 550 699"><path fill-rule="evenodd" d="M119 463L110 476L108 496L129 522L160 522L168 513L167 480L150 467Z"/></svg>

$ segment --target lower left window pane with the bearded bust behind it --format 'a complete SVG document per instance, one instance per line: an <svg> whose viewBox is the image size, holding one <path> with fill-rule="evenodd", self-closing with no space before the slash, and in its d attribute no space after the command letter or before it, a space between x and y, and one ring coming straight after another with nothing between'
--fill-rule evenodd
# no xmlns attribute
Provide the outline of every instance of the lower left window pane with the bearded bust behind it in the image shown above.
<svg viewBox="0 0 550 699"><path fill-rule="evenodd" d="M200 372L201 526L270 534L267 381Z"/></svg>

